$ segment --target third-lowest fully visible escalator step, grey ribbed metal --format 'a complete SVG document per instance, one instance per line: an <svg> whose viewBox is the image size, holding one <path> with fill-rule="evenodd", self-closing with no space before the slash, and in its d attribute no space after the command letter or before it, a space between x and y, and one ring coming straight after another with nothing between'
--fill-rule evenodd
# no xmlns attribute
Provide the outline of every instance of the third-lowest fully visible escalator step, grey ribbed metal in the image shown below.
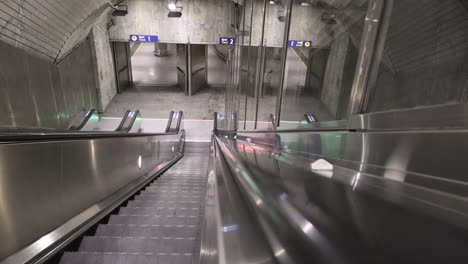
<svg viewBox="0 0 468 264"><path fill-rule="evenodd" d="M111 215L109 224L124 225L196 225L198 216Z"/></svg>

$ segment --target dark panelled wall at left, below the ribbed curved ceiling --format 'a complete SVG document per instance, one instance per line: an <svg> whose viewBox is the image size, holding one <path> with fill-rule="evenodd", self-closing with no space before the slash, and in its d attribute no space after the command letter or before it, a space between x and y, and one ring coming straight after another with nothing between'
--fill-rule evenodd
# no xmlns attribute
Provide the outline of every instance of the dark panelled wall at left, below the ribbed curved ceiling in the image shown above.
<svg viewBox="0 0 468 264"><path fill-rule="evenodd" d="M96 108L91 44L59 64L0 42L0 126L65 128L77 112Z"/></svg>

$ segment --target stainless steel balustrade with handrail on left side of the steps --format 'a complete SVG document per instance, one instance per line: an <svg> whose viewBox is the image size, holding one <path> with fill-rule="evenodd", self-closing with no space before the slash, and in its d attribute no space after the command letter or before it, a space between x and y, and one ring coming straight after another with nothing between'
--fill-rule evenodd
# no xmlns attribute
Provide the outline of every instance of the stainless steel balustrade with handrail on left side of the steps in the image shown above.
<svg viewBox="0 0 468 264"><path fill-rule="evenodd" d="M167 134L0 133L0 263L60 250L183 155Z"/></svg>

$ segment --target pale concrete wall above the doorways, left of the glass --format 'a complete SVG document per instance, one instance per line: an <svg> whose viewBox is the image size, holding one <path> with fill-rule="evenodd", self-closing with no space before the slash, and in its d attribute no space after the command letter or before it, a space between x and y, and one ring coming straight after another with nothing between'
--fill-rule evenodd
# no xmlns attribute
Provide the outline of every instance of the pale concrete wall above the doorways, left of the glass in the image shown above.
<svg viewBox="0 0 468 264"><path fill-rule="evenodd" d="M218 44L219 37L230 36L230 8L227 0L179 1L182 17L168 18L166 0L131 0L128 15L114 17L112 40L128 41L131 34L158 35L160 42Z"/></svg>

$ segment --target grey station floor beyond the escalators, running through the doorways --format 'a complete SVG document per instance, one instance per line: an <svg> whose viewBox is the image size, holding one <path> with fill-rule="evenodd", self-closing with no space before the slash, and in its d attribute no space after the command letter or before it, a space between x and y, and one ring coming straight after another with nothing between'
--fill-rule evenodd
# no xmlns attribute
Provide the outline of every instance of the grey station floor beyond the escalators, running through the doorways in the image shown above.
<svg viewBox="0 0 468 264"><path fill-rule="evenodd" d="M208 85L193 96L185 96L177 86L175 44L168 45L167 57L154 56L152 43L132 50L134 87L118 94L103 116L121 117L130 109L140 110L143 118L167 118L170 111L183 111L186 119L211 120L214 112L224 112L226 63L212 46L208 46Z"/></svg>

